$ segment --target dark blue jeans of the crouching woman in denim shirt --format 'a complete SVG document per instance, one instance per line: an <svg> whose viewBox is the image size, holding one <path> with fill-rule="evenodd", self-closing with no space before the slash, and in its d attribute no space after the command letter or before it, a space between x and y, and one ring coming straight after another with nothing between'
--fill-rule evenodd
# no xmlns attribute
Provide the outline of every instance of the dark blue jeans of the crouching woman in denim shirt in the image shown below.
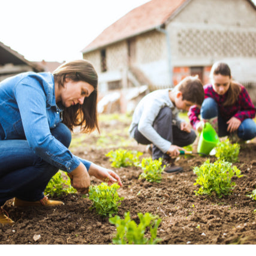
<svg viewBox="0 0 256 256"><path fill-rule="evenodd" d="M51 129L66 147L70 146L71 132L64 124ZM44 197L49 180L58 172L35 155L26 140L0 140L0 206L17 197L26 201L37 201Z"/></svg>

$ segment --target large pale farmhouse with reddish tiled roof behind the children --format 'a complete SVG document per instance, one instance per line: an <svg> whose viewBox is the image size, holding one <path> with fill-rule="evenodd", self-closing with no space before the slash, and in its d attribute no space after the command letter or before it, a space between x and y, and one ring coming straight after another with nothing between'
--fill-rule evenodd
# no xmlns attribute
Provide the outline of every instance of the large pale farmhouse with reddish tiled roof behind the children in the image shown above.
<svg viewBox="0 0 256 256"><path fill-rule="evenodd" d="M256 83L256 8L251 0L152 0L106 28L82 50L101 94L175 86L188 75L209 81L213 62Z"/></svg>

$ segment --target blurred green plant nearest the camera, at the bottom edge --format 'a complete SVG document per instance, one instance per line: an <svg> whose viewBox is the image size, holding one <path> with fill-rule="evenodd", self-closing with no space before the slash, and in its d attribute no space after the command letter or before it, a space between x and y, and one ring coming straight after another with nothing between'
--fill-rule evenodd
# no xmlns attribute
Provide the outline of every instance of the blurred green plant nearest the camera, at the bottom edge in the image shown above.
<svg viewBox="0 0 256 256"><path fill-rule="evenodd" d="M151 213L138 213L140 223L137 225L131 220L129 212L125 212L125 218L121 219L116 215L109 219L111 224L116 225L116 236L113 243L117 245L155 245L161 239L158 239L157 229L161 222L158 216ZM150 238L145 237L146 230L150 230Z"/></svg>

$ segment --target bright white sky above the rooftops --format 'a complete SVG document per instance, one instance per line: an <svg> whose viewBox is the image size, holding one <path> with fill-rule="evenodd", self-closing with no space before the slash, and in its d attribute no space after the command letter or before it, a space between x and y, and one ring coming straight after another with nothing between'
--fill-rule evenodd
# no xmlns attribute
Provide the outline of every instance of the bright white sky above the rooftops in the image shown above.
<svg viewBox="0 0 256 256"><path fill-rule="evenodd" d="M1 0L0 41L28 61L81 59L105 28L149 0Z"/></svg>

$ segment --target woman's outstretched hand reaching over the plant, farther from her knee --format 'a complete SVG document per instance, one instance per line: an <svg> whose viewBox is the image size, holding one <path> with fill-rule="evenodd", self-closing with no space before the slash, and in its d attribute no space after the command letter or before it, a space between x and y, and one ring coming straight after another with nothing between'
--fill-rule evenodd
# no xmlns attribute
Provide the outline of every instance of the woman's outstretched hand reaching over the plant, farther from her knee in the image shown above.
<svg viewBox="0 0 256 256"><path fill-rule="evenodd" d="M88 173L90 176L92 175L103 182L107 182L108 185L118 183L119 186L122 186L121 179L118 174L115 173L115 171L101 167L97 164L92 163Z"/></svg>

